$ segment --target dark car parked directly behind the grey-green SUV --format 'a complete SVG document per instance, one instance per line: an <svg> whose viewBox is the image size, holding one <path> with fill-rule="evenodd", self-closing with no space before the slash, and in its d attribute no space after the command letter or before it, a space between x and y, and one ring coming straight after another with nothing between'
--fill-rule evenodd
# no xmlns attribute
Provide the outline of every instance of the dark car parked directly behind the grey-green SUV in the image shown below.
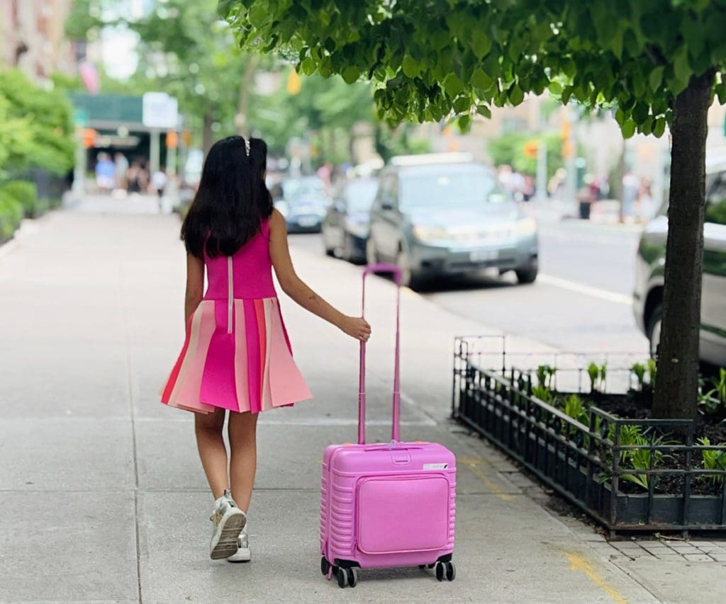
<svg viewBox="0 0 726 604"><path fill-rule="evenodd" d="M322 241L327 255L364 262L370 207L376 191L375 178L355 178L343 186L322 222Z"/></svg>

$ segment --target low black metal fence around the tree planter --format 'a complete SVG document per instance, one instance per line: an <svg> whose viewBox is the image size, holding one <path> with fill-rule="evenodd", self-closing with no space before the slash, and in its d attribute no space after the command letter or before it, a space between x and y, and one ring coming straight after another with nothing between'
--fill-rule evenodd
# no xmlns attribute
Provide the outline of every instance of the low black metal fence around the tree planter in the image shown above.
<svg viewBox="0 0 726 604"><path fill-rule="evenodd" d="M625 392L634 382L633 357L607 356L607 379L598 392ZM542 363L556 368L552 384L558 392L589 393L590 378L584 363L578 365L584 358L592 355L515 354L507 352L502 337L457 338L453 417L613 534L726 531L726 469L706 469L704 463L707 456L726 455L726 447L694 442L693 421L623 419L597 407L578 421L532 394ZM633 431L637 444L628 437ZM666 433L680 437L664 439ZM672 463L660 463L666 456ZM670 494L656 490L665 480L675 485ZM717 495L694 494L694 485L703 481L712 481Z"/></svg>

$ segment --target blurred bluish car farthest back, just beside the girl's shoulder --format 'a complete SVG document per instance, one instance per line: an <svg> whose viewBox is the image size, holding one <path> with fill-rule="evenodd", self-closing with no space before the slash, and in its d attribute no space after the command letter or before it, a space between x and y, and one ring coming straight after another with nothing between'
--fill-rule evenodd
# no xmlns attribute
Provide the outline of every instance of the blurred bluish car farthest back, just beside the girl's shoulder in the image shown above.
<svg viewBox="0 0 726 604"><path fill-rule="evenodd" d="M287 178L271 191L274 206L285 217L290 233L319 233L332 202L325 183L317 176Z"/></svg>

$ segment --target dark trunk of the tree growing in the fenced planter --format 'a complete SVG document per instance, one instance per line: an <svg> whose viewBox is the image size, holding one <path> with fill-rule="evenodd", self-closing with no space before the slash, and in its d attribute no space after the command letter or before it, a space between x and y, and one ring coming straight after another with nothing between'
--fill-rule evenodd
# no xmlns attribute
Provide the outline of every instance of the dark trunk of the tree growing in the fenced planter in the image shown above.
<svg viewBox="0 0 726 604"><path fill-rule="evenodd" d="M696 418L706 134L714 73L693 77L673 107L663 323L653 417Z"/></svg>

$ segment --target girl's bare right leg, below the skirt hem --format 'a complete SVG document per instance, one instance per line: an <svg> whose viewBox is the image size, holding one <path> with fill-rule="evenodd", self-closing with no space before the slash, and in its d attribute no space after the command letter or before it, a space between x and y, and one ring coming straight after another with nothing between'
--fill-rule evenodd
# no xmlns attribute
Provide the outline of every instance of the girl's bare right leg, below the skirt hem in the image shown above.
<svg viewBox="0 0 726 604"><path fill-rule="evenodd" d="M257 469L257 416L259 413L229 413L229 478L232 497L247 512Z"/></svg>

